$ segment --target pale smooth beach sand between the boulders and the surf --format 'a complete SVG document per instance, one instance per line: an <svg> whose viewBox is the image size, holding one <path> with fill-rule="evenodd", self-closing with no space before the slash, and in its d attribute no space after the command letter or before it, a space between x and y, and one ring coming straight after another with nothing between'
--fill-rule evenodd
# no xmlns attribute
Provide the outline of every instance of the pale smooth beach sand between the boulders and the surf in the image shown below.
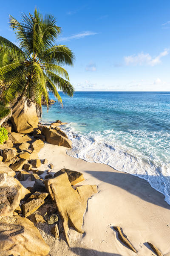
<svg viewBox="0 0 170 256"><path fill-rule="evenodd" d="M55 240L50 230L46 234L45 226L44 231L39 227L51 247L51 256L156 255L147 242L159 248L162 255L170 256L170 206L164 201L164 195L144 179L116 171L108 165L73 158L66 154L65 147L47 143L39 158L47 158L54 165L51 173L62 168L82 172L85 181L78 185L96 184L99 191L88 199L82 226L84 234L72 228L69 230L70 248L63 235ZM49 168L42 165L39 169ZM34 184L25 182L22 183L27 186ZM137 254L119 240L114 226L122 228Z"/></svg>

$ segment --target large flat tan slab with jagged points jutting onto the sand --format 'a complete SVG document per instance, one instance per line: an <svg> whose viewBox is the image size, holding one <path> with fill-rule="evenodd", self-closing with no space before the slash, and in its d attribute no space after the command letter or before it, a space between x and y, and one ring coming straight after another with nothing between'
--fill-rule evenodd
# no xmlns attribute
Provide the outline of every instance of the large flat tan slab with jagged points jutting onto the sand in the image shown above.
<svg viewBox="0 0 170 256"><path fill-rule="evenodd" d="M65 172L54 179L45 180L45 187L51 199L56 203L59 215L62 218L65 238L70 246L68 238L69 227L74 227L77 232L84 232L82 230L82 223L87 207L87 200L98 192L97 186L82 185L74 190Z"/></svg>

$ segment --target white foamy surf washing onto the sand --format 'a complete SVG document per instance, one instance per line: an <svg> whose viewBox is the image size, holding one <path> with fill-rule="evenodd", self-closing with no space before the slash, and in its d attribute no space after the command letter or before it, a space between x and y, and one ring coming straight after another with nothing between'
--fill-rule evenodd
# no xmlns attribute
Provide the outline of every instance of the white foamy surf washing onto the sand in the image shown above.
<svg viewBox="0 0 170 256"><path fill-rule="evenodd" d="M74 127L76 124L73 123L61 127L73 143L72 149L67 150L68 155L88 162L104 163L145 179L164 194L165 201L170 204L170 162L167 160L167 138L170 134L162 131L156 134L137 130L105 130L85 135Z"/></svg>

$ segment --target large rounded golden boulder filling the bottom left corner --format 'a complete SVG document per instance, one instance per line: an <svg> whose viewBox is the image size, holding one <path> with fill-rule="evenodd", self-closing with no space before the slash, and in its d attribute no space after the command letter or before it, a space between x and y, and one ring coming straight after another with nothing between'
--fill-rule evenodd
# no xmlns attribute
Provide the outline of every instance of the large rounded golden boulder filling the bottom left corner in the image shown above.
<svg viewBox="0 0 170 256"><path fill-rule="evenodd" d="M49 250L30 220L18 215L0 219L0 255L46 256Z"/></svg>

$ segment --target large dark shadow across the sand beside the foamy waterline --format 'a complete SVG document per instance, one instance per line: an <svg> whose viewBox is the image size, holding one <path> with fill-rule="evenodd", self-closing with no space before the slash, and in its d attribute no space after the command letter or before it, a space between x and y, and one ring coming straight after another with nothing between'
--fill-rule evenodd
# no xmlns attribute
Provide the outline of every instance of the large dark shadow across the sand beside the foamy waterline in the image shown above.
<svg viewBox="0 0 170 256"><path fill-rule="evenodd" d="M170 205L164 201L164 195L156 191L151 185L145 180L148 178L145 175L140 175L139 177L133 176L132 174L127 174L124 172L111 172L111 171L85 171L91 176L96 177L102 182L110 183L114 186L125 189L131 194L140 197L149 203L164 207L170 210ZM145 178L145 179L144 179ZM155 179L156 176L150 176L151 179ZM170 180L170 177L166 177Z"/></svg>

